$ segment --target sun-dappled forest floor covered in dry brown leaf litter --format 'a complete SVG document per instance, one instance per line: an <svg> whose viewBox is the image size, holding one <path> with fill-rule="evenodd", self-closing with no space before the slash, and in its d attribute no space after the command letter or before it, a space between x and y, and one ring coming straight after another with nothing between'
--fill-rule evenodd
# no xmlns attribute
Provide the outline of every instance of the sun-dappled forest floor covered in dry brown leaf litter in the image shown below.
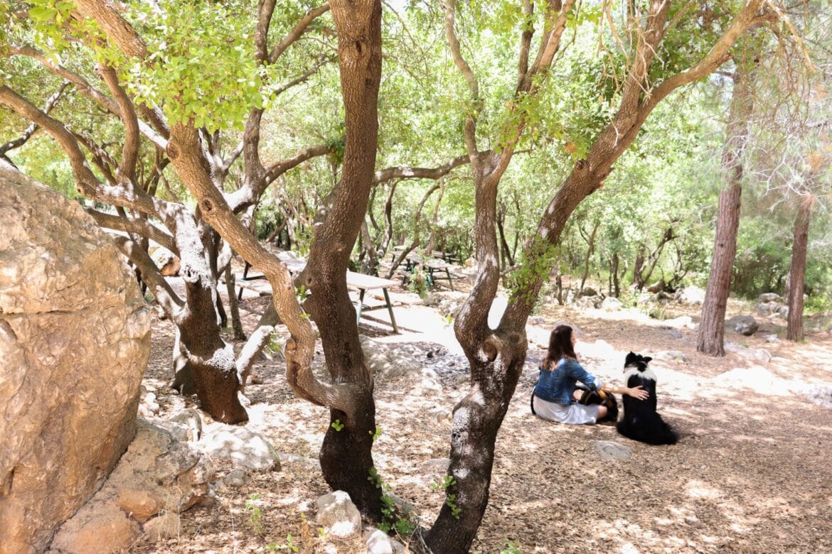
<svg viewBox="0 0 832 554"><path fill-rule="evenodd" d="M445 289L438 295L465 296ZM468 367L447 319L409 292L396 298L410 302L395 309L400 335L363 320L360 331L433 367L443 392L414 394L413 376L376 381L382 434L374 462L384 483L429 527L443 503L441 489L430 484L441 483L447 468L450 413L467 393ZM265 302L241 302L246 331ZM732 301L729 316L752 310ZM527 368L498 435L488 509L472 552L832 552L830 332L811 331L794 344L770 336L785 336L782 320L755 315L761 322L755 336L726 333L745 355L717 359L696 352L696 331L684 325L690 320L673 319L696 323L699 311L673 303L665 309L669 321L662 321L635 308L542 306L527 327ZM534 417L528 400L535 368L557 322L580 330L578 355L604 380L621 384L628 351L654 356L659 410L679 430L679 444L652 447L623 438L611 424L567 426ZM195 399L168 387L171 323L156 320L153 331L144 383L164 418ZM774 357L753 360L748 353L756 350ZM315 364L323 364L320 349ZM254 374L257 382L246 388L248 426L275 445L280 470L250 472L242 488L218 484L215 502L181 513L180 537L138 542L131 552L365 552L363 540L322 537L314 522L314 500L329 492L316 459L328 411L295 398L282 363L264 360ZM628 457L602 456L605 441L624 447ZM231 466L214 464L220 483ZM252 521L254 511L259 522Z"/></svg>

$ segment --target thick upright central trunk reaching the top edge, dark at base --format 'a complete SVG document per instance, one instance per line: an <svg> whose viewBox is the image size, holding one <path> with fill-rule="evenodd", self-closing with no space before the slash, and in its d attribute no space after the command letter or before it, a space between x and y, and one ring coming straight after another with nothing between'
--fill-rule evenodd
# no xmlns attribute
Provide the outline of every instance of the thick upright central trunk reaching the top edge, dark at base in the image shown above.
<svg viewBox="0 0 832 554"><path fill-rule="evenodd" d="M374 182L378 144L378 95L381 79L381 2L330 2L338 29L339 69L344 97L346 143L341 181L332 210L315 231L309 263L300 282L312 291L309 306L318 324L329 373L349 386L353 417L330 409L329 426L319 459L324 479L343 490L370 519L381 517L383 491L368 478L375 426L373 375L359 343L355 310L349 300L346 271L349 254L367 213ZM341 427L343 425L343 427Z"/></svg>

